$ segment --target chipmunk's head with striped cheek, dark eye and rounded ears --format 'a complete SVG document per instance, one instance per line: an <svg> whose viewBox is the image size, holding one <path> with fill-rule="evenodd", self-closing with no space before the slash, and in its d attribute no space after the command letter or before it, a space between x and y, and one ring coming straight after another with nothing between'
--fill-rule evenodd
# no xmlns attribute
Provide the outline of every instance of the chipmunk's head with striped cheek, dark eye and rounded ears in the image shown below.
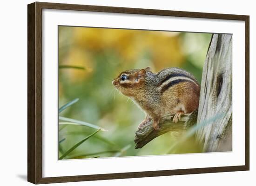
<svg viewBox="0 0 256 186"><path fill-rule="evenodd" d="M138 90L145 83L145 78L148 76L147 72L151 72L150 67L123 71L112 81L112 84L123 95L136 96Z"/></svg>

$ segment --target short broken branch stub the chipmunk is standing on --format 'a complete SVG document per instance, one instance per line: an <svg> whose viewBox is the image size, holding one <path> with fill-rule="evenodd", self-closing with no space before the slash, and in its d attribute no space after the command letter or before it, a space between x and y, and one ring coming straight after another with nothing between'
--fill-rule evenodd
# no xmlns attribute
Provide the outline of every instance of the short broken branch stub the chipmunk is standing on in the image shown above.
<svg viewBox="0 0 256 186"><path fill-rule="evenodd" d="M135 148L142 148L148 142L167 132L185 131L185 129L195 124L197 119L197 111L198 110L196 109L190 114L182 115L181 120L178 123L172 121L174 115L165 115L160 120L159 130L155 130L153 128L153 120L151 120L135 132Z"/></svg>

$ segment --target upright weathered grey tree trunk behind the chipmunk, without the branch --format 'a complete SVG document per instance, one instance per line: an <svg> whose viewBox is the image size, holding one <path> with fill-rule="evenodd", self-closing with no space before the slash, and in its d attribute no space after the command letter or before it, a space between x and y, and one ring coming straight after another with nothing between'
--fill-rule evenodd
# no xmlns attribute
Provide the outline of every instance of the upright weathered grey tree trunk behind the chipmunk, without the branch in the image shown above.
<svg viewBox="0 0 256 186"><path fill-rule="evenodd" d="M196 133L196 139L203 144L205 152L232 149L231 34L213 34L203 67L197 123L216 115L220 116ZM220 147L223 143L226 144L225 149Z"/></svg>

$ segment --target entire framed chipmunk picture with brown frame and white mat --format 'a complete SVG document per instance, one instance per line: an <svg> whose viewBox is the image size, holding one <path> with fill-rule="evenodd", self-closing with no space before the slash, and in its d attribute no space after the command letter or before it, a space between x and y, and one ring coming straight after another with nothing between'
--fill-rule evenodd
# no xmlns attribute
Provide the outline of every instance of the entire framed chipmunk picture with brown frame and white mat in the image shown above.
<svg viewBox="0 0 256 186"><path fill-rule="evenodd" d="M249 170L249 16L27 12L29 182Z"/></svg>

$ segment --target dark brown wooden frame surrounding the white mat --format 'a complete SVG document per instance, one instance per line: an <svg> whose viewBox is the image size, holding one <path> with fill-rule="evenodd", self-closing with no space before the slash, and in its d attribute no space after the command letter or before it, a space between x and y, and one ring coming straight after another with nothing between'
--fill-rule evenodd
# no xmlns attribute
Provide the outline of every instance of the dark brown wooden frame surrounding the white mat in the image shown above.
<svg viewBox="0 0 256 186"><path fill-rule="evenodd" d="M207 167L132 173L108 173L80 176L42 178L42 9L79 10L106 13L130 13L188 18L229 19L245 21L245 165L230 167ZM109 180L179 174L214 173L249 170L249 16L217 13L195 13L110 6L88 6L35 2L27 7L28 21L28 133L27 133L27 180L34 184Z"/></svg>

